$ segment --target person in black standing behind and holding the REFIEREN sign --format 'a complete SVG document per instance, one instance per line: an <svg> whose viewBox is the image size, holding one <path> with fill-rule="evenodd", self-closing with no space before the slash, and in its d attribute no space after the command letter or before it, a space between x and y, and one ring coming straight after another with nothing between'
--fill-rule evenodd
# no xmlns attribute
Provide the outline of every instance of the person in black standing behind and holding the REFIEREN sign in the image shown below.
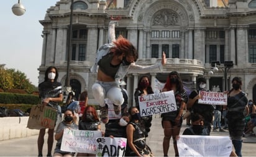
<svg viewBox="0 0 256 157"><path fill-rule="evenodd" d="M191 114L199 114L203 116L204 119L204 127L208 128L208 132L211 132L211 122L213 120L213 105L206 104L198 104L198 99L201 99L201 95L199 91L207 91L206 90L206 79L198 78L196 81L198 84L198 89L191 92L190 96L188 96L188 109L191 110Z"/></svg>

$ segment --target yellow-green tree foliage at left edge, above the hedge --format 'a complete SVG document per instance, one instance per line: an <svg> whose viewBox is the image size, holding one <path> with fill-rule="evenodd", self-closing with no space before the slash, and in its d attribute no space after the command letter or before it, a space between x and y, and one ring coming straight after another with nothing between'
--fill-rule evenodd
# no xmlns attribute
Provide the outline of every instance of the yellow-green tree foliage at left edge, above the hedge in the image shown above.
<svg viewBox="0 0 256 157"><path fill-rule="evenodd" d="M4 65L0 65L0 89L5 92L10 89L23 89L25 92L31 94L33 91L37 90L25 73L19 70L4 68Z"/></svg>

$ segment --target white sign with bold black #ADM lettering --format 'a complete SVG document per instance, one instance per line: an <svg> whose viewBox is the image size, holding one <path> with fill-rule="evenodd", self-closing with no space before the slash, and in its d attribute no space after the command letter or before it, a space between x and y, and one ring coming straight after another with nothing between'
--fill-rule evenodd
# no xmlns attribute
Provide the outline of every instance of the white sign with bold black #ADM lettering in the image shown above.
<svg viewBox="0 0 256 157"><path fill-rule="evenodd" d="M126 153L126 138L97 138L96 156L124 156Z"/></svg>

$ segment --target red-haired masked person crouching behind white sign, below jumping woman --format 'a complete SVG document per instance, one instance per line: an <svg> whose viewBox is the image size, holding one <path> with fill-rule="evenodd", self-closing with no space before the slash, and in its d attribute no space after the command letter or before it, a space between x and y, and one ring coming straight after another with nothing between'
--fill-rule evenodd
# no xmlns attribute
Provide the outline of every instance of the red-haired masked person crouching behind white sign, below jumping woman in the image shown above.
<svg viewBox="0 0 256 157"><path fill-rule="evenodd" d="M79 122L79 130L101 130L101 123L93 105L87 105ZM78 153L76 156L95 156L89 153Z"/></svg>

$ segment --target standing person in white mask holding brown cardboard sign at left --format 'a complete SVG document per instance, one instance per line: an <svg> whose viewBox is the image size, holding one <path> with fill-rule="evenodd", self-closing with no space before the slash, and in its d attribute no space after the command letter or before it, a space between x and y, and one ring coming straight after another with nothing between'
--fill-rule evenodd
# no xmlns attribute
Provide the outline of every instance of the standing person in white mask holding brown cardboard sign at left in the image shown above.
<svg viewBox="0 0 256 157"><path fill-rule="evenodd" d="M62 84L57 82L58 70L54 66L50 66L45 71L45 79L39 84L39 97L42 99L42 105L49 105L58 110L58 102L62 102ZM61 112L61 111L60 111ZM57 118L56 118L57 119ZM54 128L48 129L48 153L47 156L52 156ZM45 128L40 129L37 146L39 156L43 156Z"/></svg>

